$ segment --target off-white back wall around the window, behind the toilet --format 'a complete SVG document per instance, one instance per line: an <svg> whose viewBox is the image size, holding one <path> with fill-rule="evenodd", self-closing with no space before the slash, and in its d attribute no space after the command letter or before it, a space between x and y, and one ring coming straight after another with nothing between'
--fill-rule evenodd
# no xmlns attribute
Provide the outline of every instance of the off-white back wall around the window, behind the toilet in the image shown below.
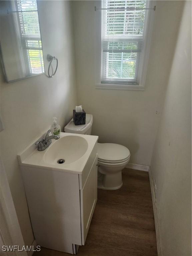
<svg viewBox="0 0 192 256"><path fill-rule="evenodd" d="M156 3L145 91L95 89L95 5L97 1L73 1L78 103L93 114L99 142L127 146L131 163L150 165L160 117L156 110L161 112L183 3Z"/></svg>

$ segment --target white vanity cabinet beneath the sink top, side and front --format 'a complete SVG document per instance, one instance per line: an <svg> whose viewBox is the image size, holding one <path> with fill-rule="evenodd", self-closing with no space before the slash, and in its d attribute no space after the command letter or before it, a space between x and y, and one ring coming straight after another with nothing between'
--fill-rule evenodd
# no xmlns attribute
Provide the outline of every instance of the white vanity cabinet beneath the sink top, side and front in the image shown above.
<svg viewBox="0 0 192 256"><path fill-rule="evenodd" d="M80 174L27 165L21 170L37 244L75 254L97 202L97 143Z"/></svg>

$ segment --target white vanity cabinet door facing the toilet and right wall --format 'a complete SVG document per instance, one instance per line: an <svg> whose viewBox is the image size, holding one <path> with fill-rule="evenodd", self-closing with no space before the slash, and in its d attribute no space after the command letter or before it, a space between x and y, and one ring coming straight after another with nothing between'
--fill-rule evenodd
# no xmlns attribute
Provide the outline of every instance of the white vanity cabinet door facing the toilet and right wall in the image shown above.
<svg viewBox="0 0 192 256"><path fill-rule="evenodd" d="M97 156L91 167L89 176L83 190L80 190L81 197L81 234L82 245L85 244L91 218L97 202Z"/></svg>

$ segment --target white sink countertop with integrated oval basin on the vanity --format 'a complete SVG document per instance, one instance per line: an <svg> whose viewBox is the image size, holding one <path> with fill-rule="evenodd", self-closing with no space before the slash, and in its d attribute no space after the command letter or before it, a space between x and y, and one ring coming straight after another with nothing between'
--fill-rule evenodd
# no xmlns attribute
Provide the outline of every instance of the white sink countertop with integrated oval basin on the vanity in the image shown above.
<svg viewBox="0 0 192 256"><path fill-rule="evenodd" d="M87 163L94 160L90 159L94 151L97 153L98 136L61 132L58 140L52 139L48 148L38 151L35 142L42 140L45 133L18 155L21 166L82 174Z"/></svg>

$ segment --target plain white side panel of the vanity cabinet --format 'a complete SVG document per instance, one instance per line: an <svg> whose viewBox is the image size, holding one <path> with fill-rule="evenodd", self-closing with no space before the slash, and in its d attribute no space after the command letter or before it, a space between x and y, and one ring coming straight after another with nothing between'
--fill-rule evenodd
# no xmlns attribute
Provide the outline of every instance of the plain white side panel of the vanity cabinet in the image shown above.
<svg viewBox="0 0 192 256"><path fill-rule="evenodd" d="M77 174L22 166L31 224L38 245L73 253L81 245Z"/></svg>

